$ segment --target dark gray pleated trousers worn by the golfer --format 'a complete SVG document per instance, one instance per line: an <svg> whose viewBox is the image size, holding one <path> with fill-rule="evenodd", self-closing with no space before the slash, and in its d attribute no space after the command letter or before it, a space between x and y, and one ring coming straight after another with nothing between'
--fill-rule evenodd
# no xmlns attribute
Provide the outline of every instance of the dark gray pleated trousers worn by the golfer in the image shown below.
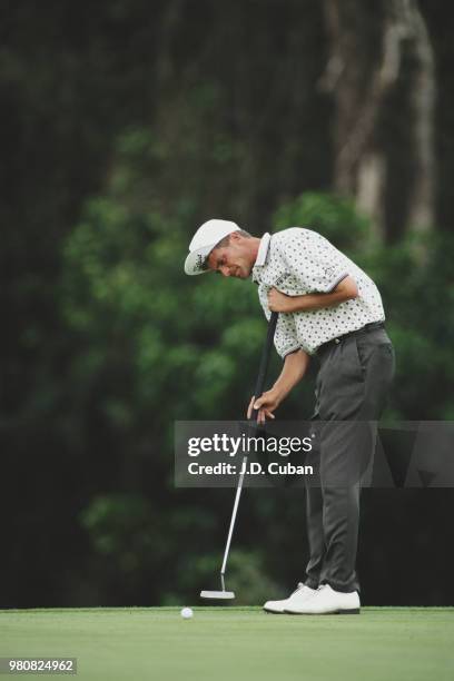
<svg viewBox="0 0 454 681"><path fill-rule="evenodd" d="M336 591L359 591L361 486L394 375L393 345L383 327L371 326L317 353L313 450L306 460L315 472L306 478L310 557L305 583L312 589L327 583Z"/></svg>

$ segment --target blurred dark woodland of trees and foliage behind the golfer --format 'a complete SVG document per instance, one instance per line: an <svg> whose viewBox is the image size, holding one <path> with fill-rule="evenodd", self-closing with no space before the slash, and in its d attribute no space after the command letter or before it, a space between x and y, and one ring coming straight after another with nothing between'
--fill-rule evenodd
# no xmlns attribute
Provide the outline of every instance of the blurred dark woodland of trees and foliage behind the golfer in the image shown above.
<svg viewBox="0 0 454 681"><path fill-rule="evenodd" d="M196 603L233 490L174 486L174 422L244 416L251 283L182 273L210 217L308 226L376 280L386 413L454 420L447 0L3 0L0 605ZM216 279L216 280L215 280ZM272 376L279 371L274 358ZM279 411L307 418L313 376ZM302 490L247 490L228 588L307 560ZM454 604L452 490L366 490L365 604Z"/></svg>

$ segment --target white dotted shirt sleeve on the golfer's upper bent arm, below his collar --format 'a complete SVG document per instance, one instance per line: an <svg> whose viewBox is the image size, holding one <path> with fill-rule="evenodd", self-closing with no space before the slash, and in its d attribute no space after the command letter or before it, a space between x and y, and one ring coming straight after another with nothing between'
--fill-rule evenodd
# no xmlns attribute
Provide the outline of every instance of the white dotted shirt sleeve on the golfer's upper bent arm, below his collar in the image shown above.
<svg viewBox="0 0 454 681"><path fill-rule="evenodd" d="M342 253L320 234L295 227L282 235L285 266L307 293L329 293L348 276Z"/></svg>

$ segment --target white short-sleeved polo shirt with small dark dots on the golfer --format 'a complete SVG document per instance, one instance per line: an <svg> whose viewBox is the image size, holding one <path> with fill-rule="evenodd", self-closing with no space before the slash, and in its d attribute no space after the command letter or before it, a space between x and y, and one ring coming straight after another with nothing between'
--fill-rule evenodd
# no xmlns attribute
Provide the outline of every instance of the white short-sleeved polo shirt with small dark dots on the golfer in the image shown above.
<svg viewBox="0 0 454 681"><path fill-rule="evenodd" d="M297 313L280 313L275 346L285 357L303 348L309 355L337 336L383 322L382 297L374 282L325 237L310 229L290 227L261 238L253 268L258 297L269 319L268 292L276 288L287 296L330 293L351 275L358 296L339 305Z"/></svg>

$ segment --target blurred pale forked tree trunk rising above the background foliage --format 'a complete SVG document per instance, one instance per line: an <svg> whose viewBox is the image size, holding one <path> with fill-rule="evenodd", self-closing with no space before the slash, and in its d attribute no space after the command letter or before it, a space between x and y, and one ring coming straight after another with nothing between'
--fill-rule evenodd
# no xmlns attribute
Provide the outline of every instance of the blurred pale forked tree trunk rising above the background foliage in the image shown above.
<svg viewBox="0 0 454 681"><path fill-rule="evenodd" d="M377 236L427 229L434 215L434 59L416 0L325 0L335 100L334 188Z"/></svg>

